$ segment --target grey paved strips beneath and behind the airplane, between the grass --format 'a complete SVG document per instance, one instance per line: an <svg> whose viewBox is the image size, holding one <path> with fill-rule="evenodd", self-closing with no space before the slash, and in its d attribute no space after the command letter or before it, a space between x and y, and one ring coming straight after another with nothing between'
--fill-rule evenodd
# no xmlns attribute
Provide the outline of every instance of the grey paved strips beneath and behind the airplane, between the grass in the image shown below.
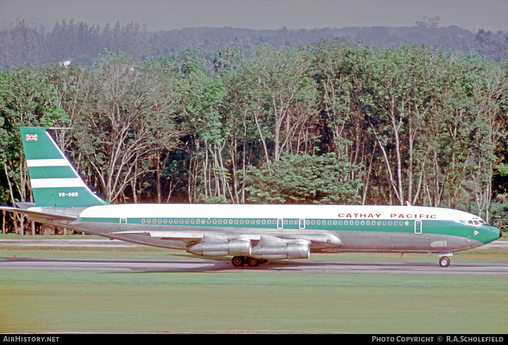
<svg viewBox="0 0 508 345"><path fill-rule="evenodd" d="M495 241L490 247L506 248L508 241ZM86 246L117 247L138 246L118 240L108 239L15 239L0 240L0 246ZM111 260L111 259L32 259L0 258L0 270L69 270L69 271L132 271L132 272L213 272L262 270L264 272L300 273L390 273L390 274L470 274L470 275L508 275L508 263L452 263L440 267L437 263L407 262L337 262L308 260L269 261L258 267L234 267L229 260L213 260L200 257L168 260ZM403 261L403 259L401 259Z"/></svg>

